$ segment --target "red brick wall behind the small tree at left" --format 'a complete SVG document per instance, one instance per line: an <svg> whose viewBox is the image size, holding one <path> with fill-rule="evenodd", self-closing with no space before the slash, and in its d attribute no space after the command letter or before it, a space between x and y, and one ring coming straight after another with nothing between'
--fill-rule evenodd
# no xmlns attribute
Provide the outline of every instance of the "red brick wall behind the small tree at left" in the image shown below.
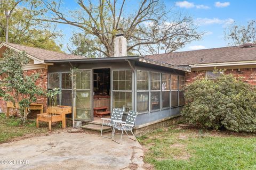
<svg viewBox="0 0 256 170"><path fill-rule="evenodd" d="M44 90L47 90L47 69L27 70L25 71L25 73L28 75L31 73L40 73L40 76L36 81L36 85ZM47 98L45 96L37 97L36 103L44 104L44 112L46 111ZM2 109L2 112L6 112L6 102L2 100L2 98L0 98L0 107Z"/></svg>

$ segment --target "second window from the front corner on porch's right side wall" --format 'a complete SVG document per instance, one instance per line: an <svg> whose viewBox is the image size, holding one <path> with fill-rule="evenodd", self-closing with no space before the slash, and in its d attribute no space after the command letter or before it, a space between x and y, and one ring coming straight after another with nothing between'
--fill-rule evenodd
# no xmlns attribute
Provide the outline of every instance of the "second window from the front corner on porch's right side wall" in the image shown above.
<svg viewBox="0 0 256 170"><path fill-rule="evenodd" d="M161 73L150 73L150 110L158 111L161 106Z"/></svg>

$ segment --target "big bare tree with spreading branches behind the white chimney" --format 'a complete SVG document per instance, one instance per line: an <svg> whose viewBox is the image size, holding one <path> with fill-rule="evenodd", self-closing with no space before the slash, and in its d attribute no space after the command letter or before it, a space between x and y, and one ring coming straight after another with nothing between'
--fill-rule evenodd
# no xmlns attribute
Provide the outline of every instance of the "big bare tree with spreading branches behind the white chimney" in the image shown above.
<svg viewBox="0 0 256 170"><path fill-rule="evenodd" d="M202 37L202 33L196 32L197 26L191 18L167 11L159 0L137 2L137 9L134 6L125 7L125 0L78 0L77 3L79 10L67 13L61 10L61 0L44 1L51 15L38 20L79 28L84 34L78 35L83 37L83 44L90 45L91 49L106 57L114 56L114 38L117 33L125 35L128 53L139 54L173 52Z"/></svg>

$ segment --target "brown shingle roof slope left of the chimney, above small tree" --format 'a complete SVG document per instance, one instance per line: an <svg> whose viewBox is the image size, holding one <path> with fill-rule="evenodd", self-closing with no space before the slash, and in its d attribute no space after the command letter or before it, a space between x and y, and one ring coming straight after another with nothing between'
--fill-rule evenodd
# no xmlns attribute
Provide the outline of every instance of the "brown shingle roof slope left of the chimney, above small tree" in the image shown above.
<svg viewBox="0 0 256 170"><path fill-rule="evenodd" d="M82 59L86 58L83 56L78 56L78 55L71 55L71 54L66 54L66 53L59 53L59 52L52 52L50 50L45 50L41 48L35 48L35 47L28 47L28 46L23 46L19 44L13 44L13 43L5 43L15 49L25 51L28 55L31 55L35 58L38 58L39 60L70 60L70 59Z"/></svg>

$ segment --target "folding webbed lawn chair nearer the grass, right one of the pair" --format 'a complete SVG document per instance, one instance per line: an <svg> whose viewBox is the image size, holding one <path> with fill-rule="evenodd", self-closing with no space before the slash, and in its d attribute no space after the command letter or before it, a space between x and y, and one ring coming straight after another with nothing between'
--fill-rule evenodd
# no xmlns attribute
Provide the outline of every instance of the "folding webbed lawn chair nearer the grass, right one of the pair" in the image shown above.
<svg viewBox="0 0 256 170"><path fill-rule="evenodd" d="M122 141L122 137L123 137L124 132L127 134L127 136L130 139L132 139L130 137L130 135L127 133L127 131L130 131L132 133L132 135L134 137L134 139L132 139L132 140L137 141L134 133L132 132L132 128L135 125L135 120L136 120L137 114L138 114L138 112L129 111L125 122L123 122L123 121L114 121L114 126L113 126L114 130L113 130L113 134L112 134L112 140L113 141L115 141L117 143L120 143ZM115 133L116 130L122 131L121 138L120 138L119 142L114 139L115 134L117 134L117 133Z"/></svg>

